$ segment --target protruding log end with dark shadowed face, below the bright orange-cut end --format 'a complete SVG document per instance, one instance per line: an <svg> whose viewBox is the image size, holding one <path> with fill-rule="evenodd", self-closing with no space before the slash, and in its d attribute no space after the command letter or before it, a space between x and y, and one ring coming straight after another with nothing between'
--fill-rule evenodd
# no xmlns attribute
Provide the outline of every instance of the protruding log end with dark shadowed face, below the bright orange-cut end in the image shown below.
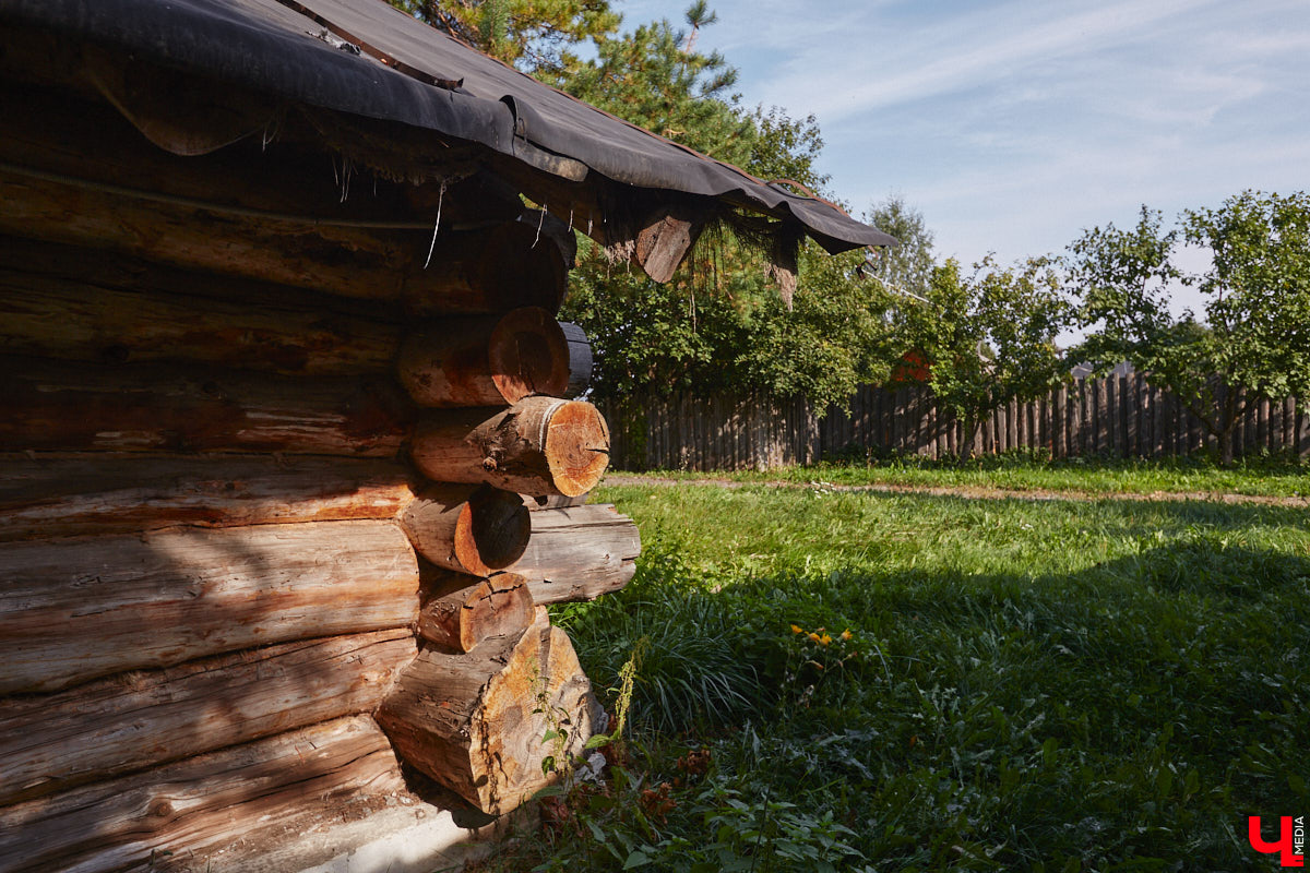
<svg viewBox="0 0 1310 873"><path fill-rule="evenodd" d="M401 513L401 526L423 558L473 576L519 560L531 525L519 495L487 486L428 486Z"/></svg>

